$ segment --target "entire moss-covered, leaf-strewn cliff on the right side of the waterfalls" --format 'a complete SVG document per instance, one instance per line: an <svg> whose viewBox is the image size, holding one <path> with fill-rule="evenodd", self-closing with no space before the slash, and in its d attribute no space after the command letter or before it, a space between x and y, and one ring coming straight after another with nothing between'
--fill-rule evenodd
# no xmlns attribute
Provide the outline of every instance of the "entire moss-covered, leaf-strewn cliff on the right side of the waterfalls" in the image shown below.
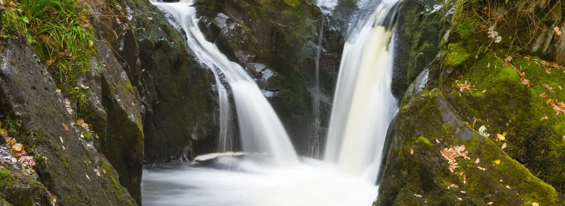
<svg viewBox="0 0 565 206"><path fill-rule="evenodd" d="M401 58L421 42L437 45L421 56L437 57L421 58L424 81L403 95L376 204L562 205L562 3L405 3L422 12L401 13L399 27L449 30L403 34L413 41Z"/></svg>

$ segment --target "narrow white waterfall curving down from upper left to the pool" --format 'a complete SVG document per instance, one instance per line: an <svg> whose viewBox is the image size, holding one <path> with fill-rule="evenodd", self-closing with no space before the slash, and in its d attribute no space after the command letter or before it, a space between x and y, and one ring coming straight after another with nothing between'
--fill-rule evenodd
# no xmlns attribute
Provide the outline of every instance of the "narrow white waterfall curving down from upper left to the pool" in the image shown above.
<svg viewBox="0 0 565 206"><path fill-rule="evenodd" d="M188 37L188 45L208 67L218 68L228 80L236 104L242 147L246 152L265 152L277 164L298 162L294 147L271 104L239 64L228 60L198 27L193 0L179 3L152 2L175 17ZM218 81L218 80L216 80ZM218 84L220 85L220 84Z"/></svg>

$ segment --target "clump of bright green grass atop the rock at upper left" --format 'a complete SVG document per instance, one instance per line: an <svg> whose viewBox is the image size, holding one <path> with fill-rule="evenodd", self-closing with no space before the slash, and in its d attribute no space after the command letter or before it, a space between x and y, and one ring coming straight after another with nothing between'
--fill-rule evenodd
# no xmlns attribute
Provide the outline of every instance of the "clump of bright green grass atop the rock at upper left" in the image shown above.
<svg viewBox="0 0 565 206"><path fill-rule="evenodd" d="M94 51L84 1L4 0L2 5L0 37L27 39L63 90L71 90L76 78L89 71L88 56Z"/></svg>

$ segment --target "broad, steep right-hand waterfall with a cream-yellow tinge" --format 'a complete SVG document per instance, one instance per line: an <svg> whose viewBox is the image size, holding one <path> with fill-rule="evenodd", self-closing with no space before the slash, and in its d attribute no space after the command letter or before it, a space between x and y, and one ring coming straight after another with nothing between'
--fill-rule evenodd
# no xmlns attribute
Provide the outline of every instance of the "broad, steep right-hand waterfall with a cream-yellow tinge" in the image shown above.
<svg viewBox="0 0 565 206"><path fill-rule="evenodd" d="M383 1L353 27L345 43L324 160L376 181L386 130L398 110L390 86L389 45L398 0ZM393 15L393 17L390 17ZM392 52L390 52L392 54Z"/></svg>

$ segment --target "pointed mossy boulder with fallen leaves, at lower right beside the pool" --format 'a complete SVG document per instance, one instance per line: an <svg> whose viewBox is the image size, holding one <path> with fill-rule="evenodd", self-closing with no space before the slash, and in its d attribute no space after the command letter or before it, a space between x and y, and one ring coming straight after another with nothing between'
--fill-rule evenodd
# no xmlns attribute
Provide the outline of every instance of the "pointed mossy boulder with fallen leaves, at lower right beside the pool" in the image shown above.
<svg viewBox="0 0 565 206"><path fill-rule="evenodd" d="M464 124L439 90L421 91L407 101L375 205L562 204L553 187ZM452 173L440 151L462 145L470 159L457 157Z"/></svg>

